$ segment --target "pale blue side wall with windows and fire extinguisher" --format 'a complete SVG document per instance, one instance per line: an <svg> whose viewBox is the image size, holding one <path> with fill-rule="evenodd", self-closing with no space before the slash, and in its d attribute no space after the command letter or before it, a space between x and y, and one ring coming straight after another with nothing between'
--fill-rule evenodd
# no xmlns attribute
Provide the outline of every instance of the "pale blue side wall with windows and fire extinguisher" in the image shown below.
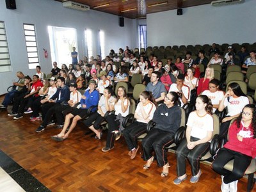
<svg viewBox="0 0 256 192"><path fill-rule="evenodd" d="M110 49L118 51L120 47L136 47L136 40L132 38L133 20L125 18L125 27L120 28L118 16L90 10L81 12L63 8L62 4L53 0L22 0L16 1L17 10L6 9L5 1L0 1L0 20L4 21L12 72L0 73L0 95L6 93L6 88L12 84L17 71L33 75L35 70L29 70L26 44L24 40L23 24L35 24L38 44L39 60L42 71L48 74L51 71L51 55L44 58L43 48L50 53L47 26L58 26L77 29L77 49L79 56L84 55L84 29L90 28L93 32L93 54L99 54L98 32L105 32L106 54ZM70 63L70 61L67 61Z"/></svg>

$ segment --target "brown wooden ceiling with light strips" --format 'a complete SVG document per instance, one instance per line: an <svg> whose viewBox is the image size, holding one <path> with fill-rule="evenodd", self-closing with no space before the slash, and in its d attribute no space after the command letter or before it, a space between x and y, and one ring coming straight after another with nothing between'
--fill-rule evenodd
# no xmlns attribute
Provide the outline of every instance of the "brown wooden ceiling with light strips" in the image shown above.
<svg viewBox="0 0 256 192"><path fill-rule="evenodd" d="M67 0L54 0L67 1ZM167 10L175 10L177 8L186 8L189 6L197 6L200 4L211 3L212 0L72 0L76 3L82 3L90 6L90 9L100 12L111 13L121 17L131 19L140 19L146 17L148 13L164 12ZM161 4L164 3L164 4ZM108 6L101 6L109 4ZM161 4L154 6L156 4ZM153 6L152 6L153 5ZM132 9L132 10L131 10ZM131 10L124 12L125 10Z"/></svg>

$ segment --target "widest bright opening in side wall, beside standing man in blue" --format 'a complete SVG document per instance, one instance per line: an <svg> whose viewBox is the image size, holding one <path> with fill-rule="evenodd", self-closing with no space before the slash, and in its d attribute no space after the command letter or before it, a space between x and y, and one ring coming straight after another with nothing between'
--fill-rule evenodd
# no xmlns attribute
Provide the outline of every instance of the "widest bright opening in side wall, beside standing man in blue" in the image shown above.
<svg viewBox="0 0 256 192"><path fill-rule="evenodd" d="M68 66L72 63L72 47L76 47L76 52L78 52L76 29L48 26L48 33L52 62L56 61L60 68L62 64Z"/></svg>

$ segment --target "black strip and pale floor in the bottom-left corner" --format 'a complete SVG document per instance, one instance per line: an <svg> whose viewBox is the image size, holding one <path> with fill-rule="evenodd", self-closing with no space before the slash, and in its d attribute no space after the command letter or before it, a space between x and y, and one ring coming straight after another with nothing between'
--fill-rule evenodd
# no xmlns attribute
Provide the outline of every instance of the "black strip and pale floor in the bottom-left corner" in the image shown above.
<svg viewBox="0 0 256 192"><path fill-rule="evenodd" d="M0 191L50 191L0 150Z"/></svg>

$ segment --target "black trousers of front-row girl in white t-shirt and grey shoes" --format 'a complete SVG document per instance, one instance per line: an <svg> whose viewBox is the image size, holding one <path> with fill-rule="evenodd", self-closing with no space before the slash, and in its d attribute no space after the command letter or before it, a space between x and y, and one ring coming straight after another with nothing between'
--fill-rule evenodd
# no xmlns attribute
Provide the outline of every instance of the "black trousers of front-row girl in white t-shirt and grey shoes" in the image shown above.
<svg viewBox="0 0 256 192"><path fill-rule="evenodd" d="M190 137L190 141L198 141L198 138ZM179 147L176 151L177 157L177 175L178 177L186 173L186 158L191 164L192 176L195 176L200 170L200 159L204 156L209 150L210 143L201 143L196 145L193 149L188 149L188 142L186 138L181 141Z"/></svg>

